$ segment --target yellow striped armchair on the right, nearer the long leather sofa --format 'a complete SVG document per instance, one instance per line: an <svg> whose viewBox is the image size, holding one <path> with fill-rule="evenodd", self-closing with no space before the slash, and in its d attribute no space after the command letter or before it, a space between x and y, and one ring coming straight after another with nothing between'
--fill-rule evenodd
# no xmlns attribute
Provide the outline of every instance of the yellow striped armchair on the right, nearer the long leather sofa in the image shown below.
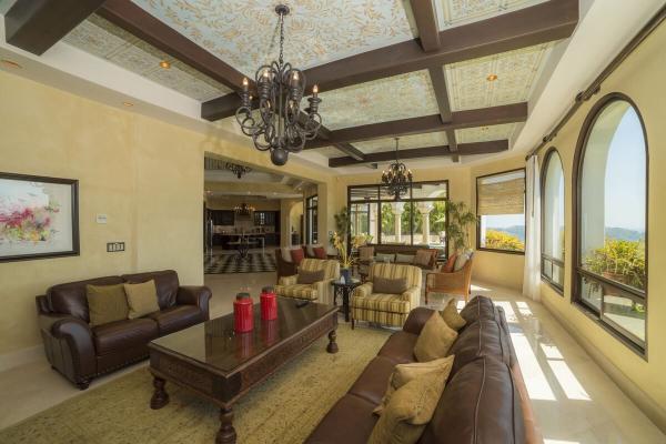
<svg viewBox="0 0 666 444"><path fill-rule="evenodd" d="M375 276L407 279L407 291L402 294L373 293ZM352 293L352 329L355 321L376 322L382 325L402 326L412 309L421 303L421 269L414 265L374 263L370 268L369 282Z"/></svg>

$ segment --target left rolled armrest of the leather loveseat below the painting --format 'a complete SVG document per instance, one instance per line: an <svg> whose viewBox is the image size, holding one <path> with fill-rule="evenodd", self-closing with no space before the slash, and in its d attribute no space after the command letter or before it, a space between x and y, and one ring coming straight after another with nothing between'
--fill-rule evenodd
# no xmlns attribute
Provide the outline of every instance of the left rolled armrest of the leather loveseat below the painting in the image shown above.
<svg viewBox="0 0 666 444"><path fill-rule="evenodd" d="M90 376L97 372L97 353L90 326L85 321L59 313L40 314L39 326L43 332L44 346L51 364L81 389L88 387ZM59 347L67 356L60 355L53 361L52 347L58 343L67 345Z"/></svg>

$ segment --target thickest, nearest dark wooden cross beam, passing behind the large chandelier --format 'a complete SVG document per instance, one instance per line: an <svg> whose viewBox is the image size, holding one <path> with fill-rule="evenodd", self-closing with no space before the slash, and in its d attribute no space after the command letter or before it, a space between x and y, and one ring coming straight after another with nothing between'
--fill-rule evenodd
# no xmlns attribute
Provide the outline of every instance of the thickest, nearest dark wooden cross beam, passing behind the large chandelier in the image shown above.
<svg viewBox="0 0 666 444"><path fill-rule="evenodd" d="M420 39L392 44L305 70L309 84L330 91L431 67L492 56L566 39L578 23L578 0L549 0L491 19L440 32L440 48L424 52ZM201 117L214 121L233 115L238 94L210 100Z"/></svg>

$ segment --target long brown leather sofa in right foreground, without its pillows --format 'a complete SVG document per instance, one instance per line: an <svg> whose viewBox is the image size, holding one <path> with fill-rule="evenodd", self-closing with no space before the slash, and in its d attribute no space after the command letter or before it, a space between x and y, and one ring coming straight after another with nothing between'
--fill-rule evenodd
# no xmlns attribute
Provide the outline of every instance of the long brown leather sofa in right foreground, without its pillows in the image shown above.
<svg viewBox="0 0 666 444"><path fill-rule="evenodd" d="M350 391L305 441L310 444L364 444L377 421L380 404L396 364L414 362L416 339L433 310L413 310L365 367ZM453 370L432 421L418 443L542 443L504 311L476 296L462 310L467 324L450 354Z"/></svg>

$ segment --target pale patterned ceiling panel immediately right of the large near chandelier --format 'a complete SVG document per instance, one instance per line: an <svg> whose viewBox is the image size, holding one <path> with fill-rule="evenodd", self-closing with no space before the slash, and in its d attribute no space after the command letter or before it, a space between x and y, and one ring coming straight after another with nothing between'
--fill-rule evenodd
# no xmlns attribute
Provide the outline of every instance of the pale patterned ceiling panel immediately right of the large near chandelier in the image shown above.
<svg viewBox="0 0 666 444"><path fill-rule="evenodd" d="M426 70L320 93L320 114L330 130L438 113Z"/></svg>

